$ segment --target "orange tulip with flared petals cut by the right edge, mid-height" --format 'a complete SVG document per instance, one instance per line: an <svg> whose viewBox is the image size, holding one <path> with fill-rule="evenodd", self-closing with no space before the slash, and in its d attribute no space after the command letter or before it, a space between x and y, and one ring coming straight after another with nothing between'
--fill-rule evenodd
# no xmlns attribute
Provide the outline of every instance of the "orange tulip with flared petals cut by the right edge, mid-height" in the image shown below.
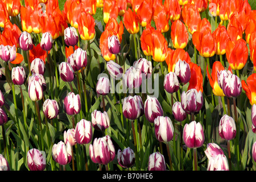
<svg viewBox="0 0 256 182"><path fill-rule="evenodd" d="M247 84L246 84L247 82ZM256 104L256 73L251 74L247 80L242 80L242 88L245 90L246 96L249 98L250 104Z"/></svg>

